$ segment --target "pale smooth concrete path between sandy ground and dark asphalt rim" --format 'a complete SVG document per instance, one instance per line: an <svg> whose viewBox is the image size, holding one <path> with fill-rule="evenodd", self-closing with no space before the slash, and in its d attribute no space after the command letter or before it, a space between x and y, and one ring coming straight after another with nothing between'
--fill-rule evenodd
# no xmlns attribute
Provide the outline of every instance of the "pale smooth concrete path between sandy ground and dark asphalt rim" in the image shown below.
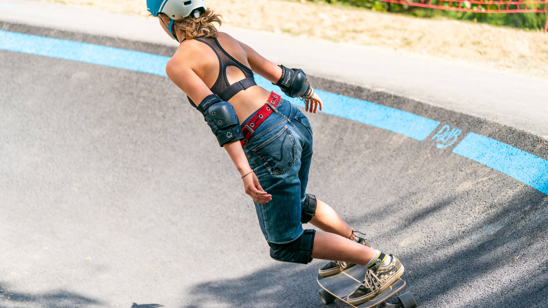
<svg viewBox="0 0 548 308"><path fill-rule="evenodd" d="M0 0L0 20L75 33L124 38L176 47L154 18L91 10L59 3ZM275 63L301 67L309 75L393 93L431 106L485 118L548 138L544 126L548 82L482 69L458 59L402 50L334 43L222 25ZM310 50L310 51L309 51ZM162 54L160 50L152 51ZM167 55L171 55L168 53ZM328 59L328 60L327 60Z"/></svg>

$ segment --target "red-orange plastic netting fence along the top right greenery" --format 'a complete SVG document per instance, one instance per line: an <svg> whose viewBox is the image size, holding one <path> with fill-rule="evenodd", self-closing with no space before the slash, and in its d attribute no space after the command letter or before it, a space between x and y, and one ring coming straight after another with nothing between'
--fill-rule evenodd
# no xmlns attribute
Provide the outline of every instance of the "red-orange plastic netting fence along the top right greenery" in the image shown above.
<svg viewBox="0 0 548 308"><path fill-rule="evenodd" d="M475 13L548 13L548 0L381 0L413 7ZM540 8L539 8L540 4ZM548 15L544 32L548 30Z"/></svg>

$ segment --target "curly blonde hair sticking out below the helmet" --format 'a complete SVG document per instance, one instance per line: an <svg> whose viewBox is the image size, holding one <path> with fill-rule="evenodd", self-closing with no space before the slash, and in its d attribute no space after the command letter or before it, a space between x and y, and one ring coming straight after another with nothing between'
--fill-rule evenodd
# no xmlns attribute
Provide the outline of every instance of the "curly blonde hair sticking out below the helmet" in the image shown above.
<svg viewBox="0 0 548 308"><path fill-rule="evenodd" d="M159 13L158 15L169 17L165 13ZM206 37L217 37L218 31L213 25L213 22L216 22L220 26L221 18L221 15L215 14L212 9L207 8L206 12L203 12L197 18L186 16L183 19L173 21L173 26L177 31L181 32L186 39L193 39L204 34Z"/></svg>

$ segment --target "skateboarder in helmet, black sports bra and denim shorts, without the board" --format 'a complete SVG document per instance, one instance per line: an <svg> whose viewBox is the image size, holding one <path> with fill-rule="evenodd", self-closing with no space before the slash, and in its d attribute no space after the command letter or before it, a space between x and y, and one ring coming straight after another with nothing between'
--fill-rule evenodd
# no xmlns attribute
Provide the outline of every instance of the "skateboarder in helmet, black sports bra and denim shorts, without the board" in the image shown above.
<svg viewBox="0 0 548 308"><path fill-rule="evenodd" d="M305 111L316 113L322 100L305 73L275 65L217 31L213 23L220 25L220 16L205 0L147 0L147 8L180 43L165 71L236 165L255 203L270 256L302 264L312 258L335 260L319 270L322 276L354 264L367 266L363 282L347 299L350 304L364 303L396 281L403 266L395 256L371 248L330 206L306 193L310 123L303 112L253 78L258 73L288 96L304 99ZM323 231L303 230L308 222Z"/></svg>

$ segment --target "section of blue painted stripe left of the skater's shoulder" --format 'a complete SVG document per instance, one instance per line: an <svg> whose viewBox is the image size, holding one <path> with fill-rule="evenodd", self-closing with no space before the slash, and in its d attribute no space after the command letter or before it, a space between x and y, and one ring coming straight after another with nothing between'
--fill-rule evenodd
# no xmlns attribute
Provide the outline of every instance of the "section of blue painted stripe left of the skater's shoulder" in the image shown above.
<svg viewBox="0 0 548 308"><path fill-rule="evenodd" d="M0 49L165 75L169 57L0 30Z"/></svg>

